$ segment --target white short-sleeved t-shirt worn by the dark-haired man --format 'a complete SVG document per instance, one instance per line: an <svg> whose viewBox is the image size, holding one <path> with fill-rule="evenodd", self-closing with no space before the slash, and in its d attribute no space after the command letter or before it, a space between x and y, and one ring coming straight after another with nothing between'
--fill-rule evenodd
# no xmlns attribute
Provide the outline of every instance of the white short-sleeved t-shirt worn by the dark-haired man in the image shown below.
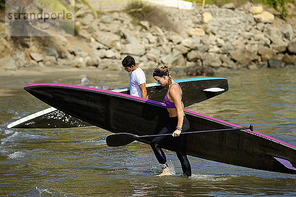
<svg viewBox="0 0 296 197"><path fill-rule="evenodd" d="M146 83L146 75L142 68L138 67L130 75L130 95L142 97L140 85Z"/></svg>

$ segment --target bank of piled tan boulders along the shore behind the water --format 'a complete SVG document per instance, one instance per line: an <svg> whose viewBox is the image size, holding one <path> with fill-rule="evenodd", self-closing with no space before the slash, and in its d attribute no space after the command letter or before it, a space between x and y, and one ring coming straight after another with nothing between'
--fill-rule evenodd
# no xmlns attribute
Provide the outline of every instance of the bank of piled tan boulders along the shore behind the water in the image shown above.
<svg viewBox="0 0 296 197"><path fill-rule="evenodd" d="M194 10L162 7L173 28L168 31L148 21L132 24L125 12L95 18L88 9L76 13L76 36L51 37L57 48L39 50L25 39L18 47L0 37L0 68L78 67L122 70L126 55L143 69L167 64L188 75L212 75L226 69L296 66L296 24L280 19L277 11L248 2ZM173 31L175 30L175 31Z"/></svg>

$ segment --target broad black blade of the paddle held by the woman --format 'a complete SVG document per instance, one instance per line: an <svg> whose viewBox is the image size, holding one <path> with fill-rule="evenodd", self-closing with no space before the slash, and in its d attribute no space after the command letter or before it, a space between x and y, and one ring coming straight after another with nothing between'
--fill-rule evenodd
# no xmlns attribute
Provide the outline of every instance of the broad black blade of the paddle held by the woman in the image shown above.
<svg viewBox="0 0 296 197"><path fill-rule="evenodd" d="M106 143L110 147L125 146L138 138L138 135L130 133L115 133L107 135Z"/></svg>

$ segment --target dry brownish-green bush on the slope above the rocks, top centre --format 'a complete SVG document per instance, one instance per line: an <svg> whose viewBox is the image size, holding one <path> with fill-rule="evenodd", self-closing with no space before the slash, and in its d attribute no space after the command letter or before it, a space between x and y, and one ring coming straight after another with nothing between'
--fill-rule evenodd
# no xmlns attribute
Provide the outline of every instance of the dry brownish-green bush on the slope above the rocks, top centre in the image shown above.
<svg viewBox="0 0 296 197"><path fill-rule="evenodd" d="M168 14L158 7L134 0L128 3L125 10L133 18L134 25L139 25L140 21L148 21L150 25L179 32L176 24L168 18Z"/></svg>

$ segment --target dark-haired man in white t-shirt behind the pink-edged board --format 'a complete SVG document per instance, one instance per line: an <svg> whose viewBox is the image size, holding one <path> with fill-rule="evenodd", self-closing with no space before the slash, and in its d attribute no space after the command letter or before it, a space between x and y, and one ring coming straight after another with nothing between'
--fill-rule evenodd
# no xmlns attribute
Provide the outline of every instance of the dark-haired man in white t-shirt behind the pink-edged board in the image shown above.
<svg viewBox="0 0 296 197"><path fill-rule="evenodd" d="M126 71L131 72L130 95L146 99L146 75L144 71L136 65L134 58L131 56L126 56L122 60L122 66Z"/></svg>

